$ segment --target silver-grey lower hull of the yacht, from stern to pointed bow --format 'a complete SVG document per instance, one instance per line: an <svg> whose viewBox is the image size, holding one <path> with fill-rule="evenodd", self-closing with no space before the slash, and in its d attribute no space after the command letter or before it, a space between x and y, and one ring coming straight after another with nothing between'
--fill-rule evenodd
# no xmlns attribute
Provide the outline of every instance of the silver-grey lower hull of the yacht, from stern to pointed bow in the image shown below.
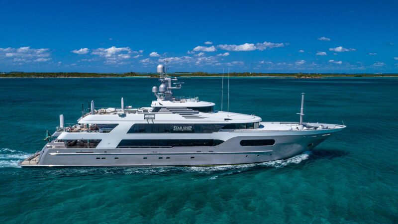
<svg viewBox="0 0 398 224"><path fill-rule="evenodd" d="M168 148L48 148L21 167L214 166L286 159L313 149L336 130L306 134L236 136L217 146ZM296 131L295 131L296 132ZM297 131L299 133L300 131ZM282 134L282 135L281 135ZM245 139L274 139L267 146L241 146Z"/></svg>

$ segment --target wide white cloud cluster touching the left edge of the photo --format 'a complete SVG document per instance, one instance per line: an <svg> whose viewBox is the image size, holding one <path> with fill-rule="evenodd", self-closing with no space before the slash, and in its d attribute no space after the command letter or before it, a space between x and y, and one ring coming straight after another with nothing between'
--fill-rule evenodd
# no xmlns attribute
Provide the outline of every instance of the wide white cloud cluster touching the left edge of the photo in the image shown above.
<svg viewBox="0 0 398 224"><path fill-rule="evenodd" d="M0 48L0 58L6 61L17 62L18 64L30 62L46 62L51 60L50 49L48 48Z"/></svg>

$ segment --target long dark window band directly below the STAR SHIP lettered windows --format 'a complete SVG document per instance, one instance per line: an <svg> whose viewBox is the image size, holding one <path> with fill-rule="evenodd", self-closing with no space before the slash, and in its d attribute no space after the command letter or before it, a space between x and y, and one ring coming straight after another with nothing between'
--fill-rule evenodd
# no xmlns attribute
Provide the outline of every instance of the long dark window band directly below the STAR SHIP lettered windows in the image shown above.
<svg viewBox="0 0 398 224"><path fill-rule="evenodd" d="M124 139L118 148L159 148L184 146L216 146L221 144L218 139Z"/></svg>

